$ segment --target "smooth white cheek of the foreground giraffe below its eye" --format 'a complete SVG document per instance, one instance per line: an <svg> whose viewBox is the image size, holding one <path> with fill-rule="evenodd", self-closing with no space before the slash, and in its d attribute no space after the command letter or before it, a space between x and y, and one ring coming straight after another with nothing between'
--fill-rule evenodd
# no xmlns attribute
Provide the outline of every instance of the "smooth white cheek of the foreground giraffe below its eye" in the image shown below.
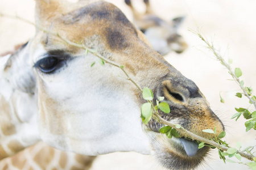
<svg viewBox="0 0 256 170"><path fill-rule="evenodd" d="M43 53L43 50L41 54L37 52L33 56L35 61ZM94 61L96 64L90 67ZM136 87L122 78L125 75L118 68L102 66L98 61L88 54L67 61L52 74L36 69L43 141L85 155L115 151L150 154L140 106L135 95L130 94Z"/></svg>

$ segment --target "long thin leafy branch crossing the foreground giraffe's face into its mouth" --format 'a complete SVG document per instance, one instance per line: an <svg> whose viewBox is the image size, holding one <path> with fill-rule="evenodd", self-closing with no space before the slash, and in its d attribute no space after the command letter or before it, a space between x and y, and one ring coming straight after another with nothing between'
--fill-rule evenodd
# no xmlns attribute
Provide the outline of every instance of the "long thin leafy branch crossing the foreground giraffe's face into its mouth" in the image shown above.
<svg viewBox="0 0 256 170"><path fill-rule="evenodd" d="M181 134L185 133L185 134L188 135L188 137L190 139L200 141L201 143L203 143L203 144L200 145L200 147L203 146L204 143L207 143L211 147L218 148L219 152L230 150L228 145L226 145L226 142L220 141L220 136L216 137L216 139L212 139L212 140L205 139L203 137L200 137L199 135L191 133L190 131L184 129L183 127L181 127L178 124L171 124L170 122L164 120L160 116L158 110L160 109L164 113L170 113L170 108L169 108L169 105L167 103L160 102L160 101L163 100L163 97L158 97L158 100L156 100L156 106L155 106L152 102L152 100L154 98L154 95L153 95L152 91L149 88L146 87L146 88L143 88L143 90L142 90L142 88L139 86L139 84L137 82L135 82L135 80L129 76L129 74L127 73L127 71L125 70L125 68L122 65L118 65L117 63L111 61L110 59L107 59L107 58L103 57L100 53L97 52L97 50L90 49L90 48L86 47L84 44L77 44L75 42L72 42L72 41L66 39L65 37L61 36L58 32L49 31L49 30L41 27L40 25L36 25L36 24L26 20L26 19L19 18L18 16L10 16L10 15L5 15L5 14L1 14L1 13L0 13L0 16L19 19L19 20L22 20L23 22L35 25L35 27L40 29L41 31L49 33L53 36L59 37L59 39L66 42L68 45L72 45L72 46L75 46L77 48L84 49L85 54L87 54L88 52L92 53L94 56L100 58L102 61L104 61L106 63L109 63L110 65L113 65L113 66L118 67L119 69L121 69L123 71L123 73L126 75L126 79L130 80L130 82L132 82L138 88L138 90L141 91L141 93L143 95L143 98L145 100L147 100L147 103L142 104L142 107L141 107L141 111L142 111L141 117L142 117L142 121L143 121L144 124L147 124L151 120L151 117L154 117L156 121L170 127L170 128L167 128L167 129L175 129L176 130L176 131L171 130L171 133L169 132L170 130L167 131L167 133L169 134L169 135L167 135L167 137L169 137L169 138L171 138L172 135L174 135L176 137L179 137L179 133L181 133ZM102 62L102 63L104 63L104 62ZM91 66L93 66L93 65L94 65L94 63L92 63ZM166 127L166 126L164 126L164 127ZM176 133L176 132L179 132L179 133ZM162 131L162 133L163 133L163 131ZM206 131L206 133L209 133L209 132ZM215 133L216 133L216 131L215 131ZM238 151L238 150L236 150L235 154L240 154L241 156L243 156L244 158L249 159L249 160L253 160L253 158L254 158L254 156L252 154L246 154L245 152Z"/></svg>

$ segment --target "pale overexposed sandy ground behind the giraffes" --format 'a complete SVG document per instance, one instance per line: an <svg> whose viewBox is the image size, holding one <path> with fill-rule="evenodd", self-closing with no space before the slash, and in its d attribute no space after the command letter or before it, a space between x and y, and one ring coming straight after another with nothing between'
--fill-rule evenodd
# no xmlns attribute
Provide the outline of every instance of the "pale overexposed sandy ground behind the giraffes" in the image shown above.
<svg viewBox="0 0 256 170"><path fill-rule="evenodd" d="M110 1L117 5L132 20L131 11L121 0ZM134 1L135 2L135 1ZM0 0L0 11L6 14L22 16L34 20L33 0ZM228 71L218 63L207 51L203 42L188 31L188 28L201 29L209 41L213 41L216 49L225 54L225 59L232 58L232 67L240 67L245 86L256 88L256 11L255 1L205 1L205 0L162 0L152 1L154 11L164 19L185 15L184 24L180 28L181 35L187 40L189 48L182 54L170 53L168 62L192 79L207 97L211 107L226 125L226 141L231 146L242 142L242 146L256 145L255 131L245 133L245 120L230 120L236 113L234 107L249 106L247 99L234 95L239 87L230 79ZM139 11L144 10L142 1L136 1ZM18 20L0 18L0 53L12 50L14 45L23 43L34 35L34 27ZM220 103L219 92L225 99ZM210 154L206 163L198 169L248 169L245 165L222 163L217 152ZM235 159L234 159L235 160ZM98 156L92 167L98 169L161 169L151 156L134 152L117 152Z"/></svg>

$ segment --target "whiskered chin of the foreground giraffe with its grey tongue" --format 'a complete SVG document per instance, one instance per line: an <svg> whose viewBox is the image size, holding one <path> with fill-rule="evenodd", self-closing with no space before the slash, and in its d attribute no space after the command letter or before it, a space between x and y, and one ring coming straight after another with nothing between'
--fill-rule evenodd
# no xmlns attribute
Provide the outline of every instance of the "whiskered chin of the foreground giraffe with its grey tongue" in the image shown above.
<svg viewBox="0 0 256 170"><path fill-rule="evenodd" d="M198 145L183 138L167 138L165 134L150 134L153 155L167 169L195 169L209 151L209 147L198 149Z"/></svg>

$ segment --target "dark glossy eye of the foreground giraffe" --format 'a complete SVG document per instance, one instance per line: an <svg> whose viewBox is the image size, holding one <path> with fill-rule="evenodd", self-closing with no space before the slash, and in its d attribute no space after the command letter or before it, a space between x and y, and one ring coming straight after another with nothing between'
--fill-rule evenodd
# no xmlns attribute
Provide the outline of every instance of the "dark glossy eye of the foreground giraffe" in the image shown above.
<svg viewBox="0 0 256 170"><path fill-rule="evenodd" d="M56 57L46 57L36 62L35 66L38 67L43 73L51 73L57 68L59 59Z"/></svg>

